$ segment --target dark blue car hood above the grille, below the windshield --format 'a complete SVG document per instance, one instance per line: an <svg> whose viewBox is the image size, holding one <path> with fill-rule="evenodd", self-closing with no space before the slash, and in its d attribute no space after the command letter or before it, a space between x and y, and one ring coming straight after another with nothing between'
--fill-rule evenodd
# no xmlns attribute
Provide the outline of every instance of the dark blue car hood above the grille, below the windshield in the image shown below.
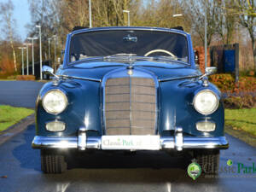
<svg viewBox="0 0 256 192"><path fill-rule="evenodd" d="M148 73L153 73L159 81L167 79L183 79L188 77L195 77L201 73L177 61L172 62L155 62L155 61L133 61L132 63L117 62L117 61L93 61L80 62L72 67L68 67L61 71L61 75L74 76L79 78L102 80L103 77L117 69L128 70L143 69Z"/></svg>

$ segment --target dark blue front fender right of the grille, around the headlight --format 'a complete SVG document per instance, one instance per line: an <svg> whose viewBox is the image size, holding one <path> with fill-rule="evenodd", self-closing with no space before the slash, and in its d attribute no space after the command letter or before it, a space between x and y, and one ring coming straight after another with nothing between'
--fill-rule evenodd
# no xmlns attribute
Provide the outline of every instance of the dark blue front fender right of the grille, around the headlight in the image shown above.
<svg viewBox="0 0 256 192"><path fill-rule="evenodd" d="M218 109L209 115L198 113L193 105L195 93L199 90L212 90L220 99ZM224 136L224 106L218 88L209 84L203 87L201 81L173 80L160 83L160 135L170 135L175 127L182 127L184 134L197 137ZM195 128L198 121L215 122L215 131L203 132Z"/></svg>

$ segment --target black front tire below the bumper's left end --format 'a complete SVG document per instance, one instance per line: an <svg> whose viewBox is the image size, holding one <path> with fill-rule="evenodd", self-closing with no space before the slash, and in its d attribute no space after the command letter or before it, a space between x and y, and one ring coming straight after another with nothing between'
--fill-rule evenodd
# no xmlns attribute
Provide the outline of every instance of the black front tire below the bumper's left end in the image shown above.
<svg viewBox="0 0 256 192"><path fill-rule="evenodd" d="M56 151L41 150L41 169L44 173L66 172L65 156L58 154Z"/></svg>

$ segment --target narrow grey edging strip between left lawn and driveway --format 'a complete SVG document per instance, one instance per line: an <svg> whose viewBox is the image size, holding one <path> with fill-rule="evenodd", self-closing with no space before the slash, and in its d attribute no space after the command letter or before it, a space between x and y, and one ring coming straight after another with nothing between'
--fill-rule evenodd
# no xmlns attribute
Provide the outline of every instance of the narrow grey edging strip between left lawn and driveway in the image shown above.
<svg viewBox="0 0 256 192"><path fill-rule="evenodd" d="M15 137L21 131L26 130L28 125L35 122L35 114L31 114L24 119L21 119L17 124L11 125L8 129L0 132L0 145L7 142L10 138Z"/></svg>

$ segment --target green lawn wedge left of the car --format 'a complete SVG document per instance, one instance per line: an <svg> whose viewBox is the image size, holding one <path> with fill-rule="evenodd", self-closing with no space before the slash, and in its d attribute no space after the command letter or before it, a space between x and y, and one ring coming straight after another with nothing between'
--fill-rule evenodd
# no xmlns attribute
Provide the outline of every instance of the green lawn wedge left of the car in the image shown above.
<svg viewBox="0 0 256 192"><path fill-rule="evenodd" d="M6 130L9 126L15 125L21 119L34 113L28 108L14 108L7 105L0 105L0 131Z"/></svg>

